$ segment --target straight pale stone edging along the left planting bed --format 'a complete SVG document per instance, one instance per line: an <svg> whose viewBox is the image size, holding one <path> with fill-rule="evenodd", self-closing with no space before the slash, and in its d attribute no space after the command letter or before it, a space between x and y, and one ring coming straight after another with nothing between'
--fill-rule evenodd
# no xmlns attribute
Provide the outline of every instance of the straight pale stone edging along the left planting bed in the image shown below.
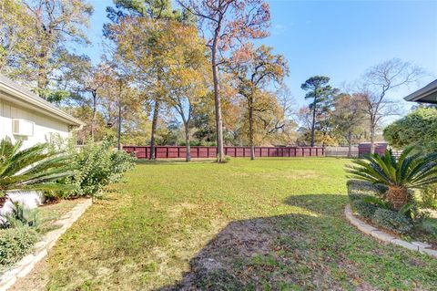
<svg viewBox="0 0 437 291"><path fill-rule="evenodd" d="M22 278L29 274L36 263L46 257L48 251L56 244L58 238L64 234L83 213L85 213L86 209L91 206L91 204L91 198L86 199L84 202L77 203L71 211L61 216L60 219L56 221L56 224L60 226L59 228L45 234L42 239L35 244L34 251L31 254L26 255L15 264L13 269L0 276L0 291L9 289L14 286L18 278Z"/></svg>

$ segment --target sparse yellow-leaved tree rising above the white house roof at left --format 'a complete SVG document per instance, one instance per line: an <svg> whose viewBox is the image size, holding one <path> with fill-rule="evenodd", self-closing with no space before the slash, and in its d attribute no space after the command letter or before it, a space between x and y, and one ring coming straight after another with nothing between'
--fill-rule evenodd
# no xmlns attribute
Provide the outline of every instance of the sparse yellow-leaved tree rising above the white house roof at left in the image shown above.
<svg viewBox="0 0 437 291"><path fill-rule="evenodd" d="M2 46L7 50L0 61L3 71L11 78L36 84L36 93L45 99L65 98L66 92L56 92L56 84L51 83L56 83L62 68L75 59L70 57L68 44L89 42L86 29L93 7L85 0L25 0L23 4L15 2L15 8L9 5L13 13L5 18L6 28L2 29L6 32Z"/></svg>

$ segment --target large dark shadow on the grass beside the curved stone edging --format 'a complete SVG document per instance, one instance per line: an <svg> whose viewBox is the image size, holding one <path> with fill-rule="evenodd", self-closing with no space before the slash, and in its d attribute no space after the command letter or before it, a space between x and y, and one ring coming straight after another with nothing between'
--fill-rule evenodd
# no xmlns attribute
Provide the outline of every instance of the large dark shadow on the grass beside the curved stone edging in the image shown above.
<svg viewBox="0 0 437 291"><path fill-rule="evenodd" d="M312 214L228 223L178 283L158 291L431 290L435 265L351 227L342 214L346 202L345 195L293 195L284 203Z"/></svg>

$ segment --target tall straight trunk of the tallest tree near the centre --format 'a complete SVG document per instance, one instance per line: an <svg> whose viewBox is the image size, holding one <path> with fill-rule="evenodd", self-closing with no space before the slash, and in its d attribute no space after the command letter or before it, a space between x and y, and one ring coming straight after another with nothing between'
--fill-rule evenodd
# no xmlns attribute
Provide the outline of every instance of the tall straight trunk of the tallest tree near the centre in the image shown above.
<svg viewBox="0 0 437 291"><path fill-rule="evenodd" d="M219 41L219 32L221 26L216 28L213 45L212 45L212 57L211 57L211 66L212 66L212 79L214 83L214 103L216 110L216 130L217 130L217 160L219 162L224 161L224 148L223 148L223 120L221 118L221 98L219 93L219 68L217 63L217 50L218 50L218 41Z"/></svg>

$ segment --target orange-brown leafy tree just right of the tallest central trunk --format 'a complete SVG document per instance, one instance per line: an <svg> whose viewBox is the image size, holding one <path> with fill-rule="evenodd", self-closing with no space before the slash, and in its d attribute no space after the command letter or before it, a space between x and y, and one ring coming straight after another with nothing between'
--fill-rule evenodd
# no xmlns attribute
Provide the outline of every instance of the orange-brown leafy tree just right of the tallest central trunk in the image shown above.
<svg viewBox="0 0 437 291"><path fill-rule="evenodd" d="M234 54L230 62L231 65L229 65L231 73L236 78L237 90L247 101L249 113L250 160L255 160L254 112L266 110L266 105L272 104L266 99L259 100L263 97L267 97L261 90L275 82L281 84L283 78L289 72L285 58L281 55L273 55L271 53L272 49L273 47L266 46L261 46L256 49L246 47L244 52L239 51ZM259 101L264 103L262 104L264 105L263 108L262 106L259 107ZM269 124L266 120L263 121L265 125Z"/></svg>

